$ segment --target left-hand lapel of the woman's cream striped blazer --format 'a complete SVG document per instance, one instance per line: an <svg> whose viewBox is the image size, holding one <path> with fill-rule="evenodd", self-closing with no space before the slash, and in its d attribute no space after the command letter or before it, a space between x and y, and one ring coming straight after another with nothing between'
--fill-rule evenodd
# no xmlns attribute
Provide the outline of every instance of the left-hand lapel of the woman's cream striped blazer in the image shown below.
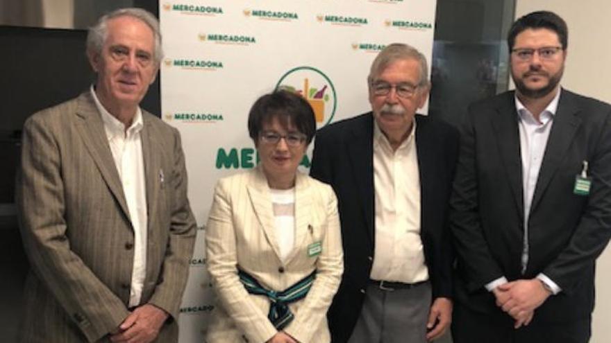
<svg viewBox="0 0 611 343"><path fill-rule="evenodd" d="M248 188L249 197L259 220L259 224L263 228L265 238L267 238L267 242L271 248L274 249L278 261L282 263L280 247L278 247L278 238L276 237L276 230L274 229L274 209L271 207L271 195L269 194L267 179L261 167L253 170L253 174L254 177L251 184L246 186Z"/></svg>

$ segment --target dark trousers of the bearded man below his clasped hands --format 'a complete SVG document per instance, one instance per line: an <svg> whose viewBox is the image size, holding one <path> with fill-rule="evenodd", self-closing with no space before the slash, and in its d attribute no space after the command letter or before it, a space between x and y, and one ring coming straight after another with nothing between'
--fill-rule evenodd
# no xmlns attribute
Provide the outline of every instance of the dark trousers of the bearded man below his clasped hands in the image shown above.
<svg viewBox="0 0 611 343"><path fill-rule="evenodd" d="M479 313L454 304L452 338L454 343L587 343L592 335L592 317L571 322L542 322L513 328L514 319L503 313Z"/></svg>

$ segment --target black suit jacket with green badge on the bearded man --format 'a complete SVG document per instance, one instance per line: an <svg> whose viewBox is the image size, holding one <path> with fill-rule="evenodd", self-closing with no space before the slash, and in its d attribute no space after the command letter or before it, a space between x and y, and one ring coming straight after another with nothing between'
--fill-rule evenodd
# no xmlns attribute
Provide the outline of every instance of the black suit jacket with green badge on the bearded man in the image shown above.
<svg viewBox="0 0 611 343"><path fill-rule="evenodd" d="M594 306L594 261L611 235L611 107L562 90L528 219L529 259L521 274L524 202L514 92L475 103L462 127L451 200L458 253L456 297L501 314L484 288L544 273L562 292L537 309L535 320L587 317ZM583 161L589 195L573 193ZM534 323L534 322L533 322Z"/></svg>

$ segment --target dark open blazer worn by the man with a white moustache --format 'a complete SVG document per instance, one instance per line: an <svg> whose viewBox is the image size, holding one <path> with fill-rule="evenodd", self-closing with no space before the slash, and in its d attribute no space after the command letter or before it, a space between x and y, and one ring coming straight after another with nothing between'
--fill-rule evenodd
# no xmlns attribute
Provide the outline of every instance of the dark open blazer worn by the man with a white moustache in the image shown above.
<svg viewBox="0 0 611 343"><path fill-rule="evenodd" d="M371 112L324 127L316 135L310 175L337 195L344 276L328 313L333 342L346 342L365 296L374 257L374 118ZM451 297L453 252L446 213L458 157L458 131L416 115L421 183L421 237L433 298Z"/></svg>

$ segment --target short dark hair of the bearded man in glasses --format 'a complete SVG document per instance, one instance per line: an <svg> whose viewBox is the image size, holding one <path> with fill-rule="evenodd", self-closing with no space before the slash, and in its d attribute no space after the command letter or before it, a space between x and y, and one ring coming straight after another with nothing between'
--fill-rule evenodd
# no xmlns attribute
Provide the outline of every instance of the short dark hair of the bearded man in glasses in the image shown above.
<svg viewBox="0 0 611 343"><path fill-rule="evenodd" d="M507 35L509 51L513 49L515 37L528 28L547 28L548 30L552 30L558 35L560 44L562 44L562 50L566 50L569 45L569 28L567 28L567 23L564 22L564 19L554 12L539 10L537 12L528 13L528 15L514 21Z"/></svg>

